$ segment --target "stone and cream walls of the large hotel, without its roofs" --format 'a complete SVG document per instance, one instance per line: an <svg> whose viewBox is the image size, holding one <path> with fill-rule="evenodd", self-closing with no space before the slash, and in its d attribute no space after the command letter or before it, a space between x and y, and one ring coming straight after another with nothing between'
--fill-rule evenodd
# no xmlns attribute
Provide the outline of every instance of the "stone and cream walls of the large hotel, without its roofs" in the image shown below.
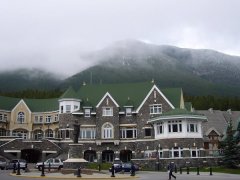
<svg viewBox="0 0 240 180"><path fill-rule="evenodd" d="M64 98L59 99L61 99L62 104L65 103ZM170 102L155 85L152 85L151 90L142 97L141 103L137 106L134 103L121 106L107 91L99 99L97 105L84 106L81 104L81 99L70 100L73 101L71 103L74 105L79 103L76 111L61 112L61 109L56 109L49 112L31 112L22 100L13 108L11 113L4 112L8 114L9 121L0 122L3 129L8 129L8 135L0 138L1 155L8 158L22 157L19 153L25 152L25 150L29 150L26 151L29 153L31 149L35 149L40 152L39 160L50 156L60 156L66 159L69 156L69 149L71 151L69 144L73 143L74 124L77 124L80 126L78 142L82 144L79 155L88 161L112 162L115 158L120 158L123 161L135 161L142 166L146 166L148 163L151 168L155 167L156 162L161 163L162 167L169 161L175 161L179 166L184 166L186 162L192 165L205 161L209 164L218 162L215 157L207 158L213 156L206 148L209 139L205 133L212 128L208 127L207 120L203 121L200 115L193 116L192 114L189 116L185 114L165 116L176 109L184 109L182 92L178 102L179 107ZM68 102L70 100L67 99ZM65 104L67 105L67 103ZM158 107L155 107L157 109L153 111L157 110L157 112L151 113L150 108L155 105ZM126 108L131 108L128 115ZM67 110L65 107L64 109ZM71 107L71 109L74 108ZM85 109L90 109L90 115L86 116ZM106 113L104 109L109 114L103 114ZM19 112L25 113L26 123L16 123ZM47 116L56 117L57 115L57 121L35 123L36 115L43 116L44 120ZM182 117L179 118L176 115ZM213 114L211 114L211 118L212 116ZM203 117L207 119L208 116ZM171 125L172 128L177 127L178 130L170 132L169 126L175 122L181 123L181 130L179 131L180 126L174 124ZM187 132L187 122L197 122L197 132L191 134ZM157 126L159 123L164 124L164 132L169 131L169 136L162 138L158 134ZM106 129L104 129L105 126ZM16 138L11 136L11 132L15 129L26 130L28 132L26 140L16 139L12 141ZM36 135L34 132L41 130L46 135L46 131L49 129L53 130L53 137L43 136L43 139L33 141ZM214 130L214 128L212 129ZM212 131L208 135L212 134L216 135ZM221 137L221 134L217 133L217 135Z"/></svg>

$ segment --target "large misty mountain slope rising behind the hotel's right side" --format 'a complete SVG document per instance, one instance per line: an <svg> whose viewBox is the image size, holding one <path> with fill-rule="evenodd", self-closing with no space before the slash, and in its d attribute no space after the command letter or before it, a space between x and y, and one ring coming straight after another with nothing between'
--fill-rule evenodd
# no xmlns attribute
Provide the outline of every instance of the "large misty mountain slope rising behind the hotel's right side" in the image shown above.
<svg viewBox="0 0 240 180"><path fill-rule="evenodd" d="M99 63L65 80L63 86L155 80L160 87L182 87L191 95L237 96L240 58L212 50L118 42L89 55Z"/></svg>

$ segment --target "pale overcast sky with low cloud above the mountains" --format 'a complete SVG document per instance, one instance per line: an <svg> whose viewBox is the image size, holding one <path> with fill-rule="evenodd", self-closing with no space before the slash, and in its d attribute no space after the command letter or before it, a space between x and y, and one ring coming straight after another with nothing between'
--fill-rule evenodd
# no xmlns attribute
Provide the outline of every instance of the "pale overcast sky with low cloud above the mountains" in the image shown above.
<svg viewBox="0 0 240 180"><path fill-rule="evenodd" d="M86 51L138 39L240 55L240 0L0 0L0 71L72 75Z"/></svg>

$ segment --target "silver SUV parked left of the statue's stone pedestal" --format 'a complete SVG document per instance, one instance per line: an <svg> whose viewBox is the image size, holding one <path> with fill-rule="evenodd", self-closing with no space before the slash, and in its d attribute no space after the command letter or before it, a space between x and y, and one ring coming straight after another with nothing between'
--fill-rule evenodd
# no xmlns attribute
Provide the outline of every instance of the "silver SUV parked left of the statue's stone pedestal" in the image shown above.
<svg viewBox="0 0 240 180"><path fill-rule="evenodd" d="M37 168L39 171L42 170L42 166L43 166L43 162L38 162L36 165L35 165L35 168ZM57 159L57 158L50 158L50 159L47 159L45 162L44 162L44 167L46 169L58 169L60 170L61 168L63 168L63 161L61 159Z"/></svg>

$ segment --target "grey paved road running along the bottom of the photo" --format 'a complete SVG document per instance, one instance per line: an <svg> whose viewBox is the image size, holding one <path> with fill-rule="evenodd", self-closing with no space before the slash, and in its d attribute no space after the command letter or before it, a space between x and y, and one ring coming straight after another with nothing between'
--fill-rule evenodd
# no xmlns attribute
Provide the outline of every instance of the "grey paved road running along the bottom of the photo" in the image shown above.
<svg viewBox="0 0 240 180"><path fill-rule="evenodd" d="M34 177L20 177L20 176L12 176L10 175L12 171L9 170L0 170L0 179L1 180L23 180L23 179L41 179L40 177L40 172L36 171L35 172L35 178ZM28 174L24 174L22 173L22 175L26 175L28 176ZM115 178L111 178L110 177L110 173L106 174L105 176L102 176L102 179L126 179L126 180L134 180L135 178L131 178L130 174L125 174L125 175L120 175L120 174L116 174ZM196 173L190 173L190 174L175 174L177 176L177 180L239 180L240 179L240 175L233 175L233 174L222 174L222 173L213 173L212 176L209 175L209 173L201 173L200 175L196 175ZM36 178L38 177L39 178ZM138 178L136 178L136 180L167 180L168 179L168 174L167 172L143 172L140 171L136 174L136 176ZM66 177L63 177L63 175L61 174L55 174L55 177L57 177L57 179L68 179ZM71 176L74 179L77 179L73 176ZM88 176L88 178L90 178L91 175ZM51 179L50 178L50 174L48 175L46 173L46 177L45 179ZM81 179L86 179L84 177L82 177ZM98 179L97 176L92 176L92 179Z"/></svg>

